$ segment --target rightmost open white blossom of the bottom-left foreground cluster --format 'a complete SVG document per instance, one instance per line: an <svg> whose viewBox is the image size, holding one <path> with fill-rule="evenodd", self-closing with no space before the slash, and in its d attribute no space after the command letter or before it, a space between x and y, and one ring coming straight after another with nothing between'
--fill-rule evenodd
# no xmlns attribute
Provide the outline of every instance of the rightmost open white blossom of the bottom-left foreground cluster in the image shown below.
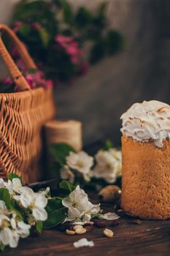
<svg viewBox="0 0 170 256"><path fill-rule="evenodd" d="M15 200L18 200L24 208L31 210L31 213L37 221L45 221L47 219L47 198L41 192L36 192L32 189L23 190L21 195L15 195Z"/></svg>

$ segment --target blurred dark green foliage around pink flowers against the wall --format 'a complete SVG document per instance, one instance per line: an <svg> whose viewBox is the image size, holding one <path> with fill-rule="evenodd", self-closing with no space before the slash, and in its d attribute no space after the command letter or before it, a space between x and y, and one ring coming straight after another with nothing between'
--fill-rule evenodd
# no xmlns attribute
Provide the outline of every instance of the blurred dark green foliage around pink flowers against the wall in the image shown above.
<svg viewBox="0 0 170 256"><path fill-rule="evenodd" d="M92 12L85 7L74 10L67 0L23 0L15 8L12 26L18 20L22 23L18 37L28 45L45 76L66 81L81 74L84 60L81 57L74 63L66 49L58 47L56 35L72 37L82 51L86 42L90 42L89 54L86 54L90 64L123 49L123 36L109 29L106 10L105 2Z"/></svg>

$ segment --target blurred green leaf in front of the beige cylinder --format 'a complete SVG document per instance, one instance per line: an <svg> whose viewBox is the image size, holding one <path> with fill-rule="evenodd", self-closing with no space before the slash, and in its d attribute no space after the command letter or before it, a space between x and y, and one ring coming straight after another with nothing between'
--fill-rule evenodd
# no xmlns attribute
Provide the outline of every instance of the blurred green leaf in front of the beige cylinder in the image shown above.
<svg viewBox="0 0 170 256"><path fill-rule="evenodd" d="M60 165L66 165L66 157L69 155L70 151L76 152L72 146L66 143L58 143L50 146L50 154Z"/></svg>

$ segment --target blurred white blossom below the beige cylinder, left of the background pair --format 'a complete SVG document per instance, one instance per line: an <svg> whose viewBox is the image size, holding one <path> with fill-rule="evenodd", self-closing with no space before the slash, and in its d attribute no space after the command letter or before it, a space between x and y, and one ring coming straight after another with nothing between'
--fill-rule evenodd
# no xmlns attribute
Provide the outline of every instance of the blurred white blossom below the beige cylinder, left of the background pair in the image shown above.
<svg viewBox="0 0 170 256"><path fill-rule="evenodd" d="M93 166L93 157L90 157L84 151L78 153L70 152L66 157L66 164L73 170L82 173L85 180L90 180L90 169Z"/></svg>

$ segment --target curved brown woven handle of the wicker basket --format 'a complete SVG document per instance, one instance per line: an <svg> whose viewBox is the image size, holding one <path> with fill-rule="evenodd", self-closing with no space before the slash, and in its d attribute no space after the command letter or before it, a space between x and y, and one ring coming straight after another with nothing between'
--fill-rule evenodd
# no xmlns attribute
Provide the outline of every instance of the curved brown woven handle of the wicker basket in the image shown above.
<svg viewBox="0 0 170 256"><path fill-rule="evenodd" d="M12 39L12 41L15 43L15 47L18 50L20 58L24 61L24 63L26 64L26 67L28 67L28 69L36 69L36 64L34 63L33 59L31 59L31 56L29 55L25 46L20 41L20 39L16 36L14 31L12 31L12 29L9 29L8 26L1 23L0 23L0 31L4 31L9 36L9 38ZM9 70L12 80L15 82L16 86L18 87L18 90L19 91L29 90L30 86L28 85L26 79L23 77L22 72L20 72L17 65L13 61L12 57L10 56L6 46L4 45L3 40L1 39L1 34L0 34L0 56L1 56L1 59L4 61L4 64L7 66L7 69Z"/></svg>

